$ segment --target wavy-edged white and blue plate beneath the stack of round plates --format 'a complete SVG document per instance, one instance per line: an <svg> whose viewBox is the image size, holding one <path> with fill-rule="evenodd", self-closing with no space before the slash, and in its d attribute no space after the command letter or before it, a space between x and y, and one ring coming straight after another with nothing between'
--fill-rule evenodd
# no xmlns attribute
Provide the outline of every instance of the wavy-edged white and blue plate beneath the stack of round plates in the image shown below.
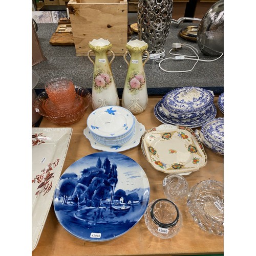
<svg viewBox="0 0 256 256"><path fill-rule="evenodd" d="M86 136L86 138L90 141L91 146L95 148L95 150L109 151L109 152L122 152L139 145L140 139L144 132L145 132L145 126L142 123L139 123L138 120L135 118L135 133L129 141L127 141L122 145L117 144L117 145L106 146L99 143L94 139L88 127L86 127L86 129L83 130L83 135Z"/></svg>

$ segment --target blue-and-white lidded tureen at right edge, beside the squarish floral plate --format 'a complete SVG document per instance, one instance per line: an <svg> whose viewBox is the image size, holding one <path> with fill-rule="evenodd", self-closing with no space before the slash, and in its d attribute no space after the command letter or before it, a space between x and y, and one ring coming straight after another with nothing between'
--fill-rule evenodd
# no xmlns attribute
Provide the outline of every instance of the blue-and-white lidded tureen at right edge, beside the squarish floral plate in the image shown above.
<svg viewBox="0 0 256 256"><path fill-rule="evenodd" d="M196 130L198 139L210 150L217 154L224 155L224 118L213 118Z"/></svg>

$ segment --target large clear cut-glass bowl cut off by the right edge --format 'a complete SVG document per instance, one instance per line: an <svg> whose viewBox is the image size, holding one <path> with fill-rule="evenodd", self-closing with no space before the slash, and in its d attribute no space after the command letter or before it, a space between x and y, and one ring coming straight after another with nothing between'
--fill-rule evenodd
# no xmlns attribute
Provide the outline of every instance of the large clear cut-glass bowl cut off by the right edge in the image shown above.
<svg viewBox="0 0 256 256"><path fill-rule="evenodd" d="M218 236L224 235L224 184L205 180L193 186L187 196L190 215L201 229Z"/></svg>

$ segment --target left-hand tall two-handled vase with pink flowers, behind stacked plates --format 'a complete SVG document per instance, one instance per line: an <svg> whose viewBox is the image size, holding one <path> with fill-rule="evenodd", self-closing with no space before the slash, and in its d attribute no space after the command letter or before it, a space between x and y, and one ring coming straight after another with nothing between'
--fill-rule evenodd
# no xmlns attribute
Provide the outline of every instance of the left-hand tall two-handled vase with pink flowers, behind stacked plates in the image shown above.
<svg viewBox="0 0 256 256"><path fill-rule="evenodd" d="M119 105L116 84L111 70L111 63L115 58L115 53L110 50L112 44L109 40L93 39L89 42L88 58L94 65L93 86L92 86L92 107L94 110L102 106ZM112 59L109 61L108 53ZM95 60L90 56L95 54Z"/></svg>

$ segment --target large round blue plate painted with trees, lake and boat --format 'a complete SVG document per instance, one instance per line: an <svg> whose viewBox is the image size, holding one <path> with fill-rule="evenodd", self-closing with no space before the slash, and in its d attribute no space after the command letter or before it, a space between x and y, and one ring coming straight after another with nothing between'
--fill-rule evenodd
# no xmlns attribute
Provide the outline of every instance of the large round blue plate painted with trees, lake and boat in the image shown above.
<svg viewBox="0 0 256 256"><path fill-rule="evenodd" d="M144 215L150 186L142 167L115 152L85 156L62 174L54 193L59 223L93 242L118 238Z"/></svg>

